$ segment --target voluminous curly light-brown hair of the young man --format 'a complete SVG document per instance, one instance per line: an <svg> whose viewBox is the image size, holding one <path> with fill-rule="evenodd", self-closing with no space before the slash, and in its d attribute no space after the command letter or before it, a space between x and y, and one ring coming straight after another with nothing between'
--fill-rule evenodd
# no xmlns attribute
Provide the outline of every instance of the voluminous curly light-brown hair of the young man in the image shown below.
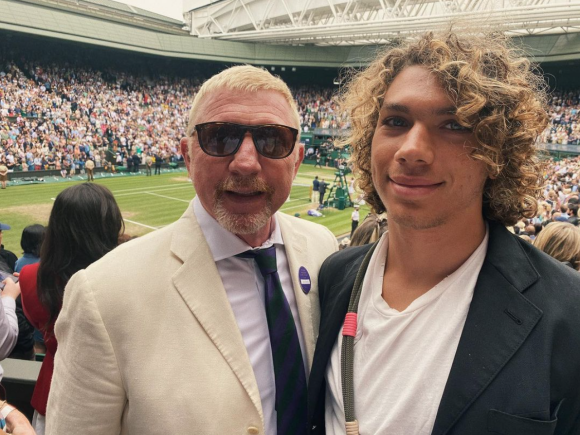
<svg viewBox="0 0 580 435"><path fill-rule="evenodd" d="M386 210L371 178L371 141L390 84L408 66L428 68L457 108L457 121L472 129L473 159L488 179L483 213L513 225L533 217L542 185L535 142L548 123L547 85L521 51L498 33L427 33L388 49L347 81L339 96L352 129L343 144L353 148L358 186L376 213Z"/></svg>

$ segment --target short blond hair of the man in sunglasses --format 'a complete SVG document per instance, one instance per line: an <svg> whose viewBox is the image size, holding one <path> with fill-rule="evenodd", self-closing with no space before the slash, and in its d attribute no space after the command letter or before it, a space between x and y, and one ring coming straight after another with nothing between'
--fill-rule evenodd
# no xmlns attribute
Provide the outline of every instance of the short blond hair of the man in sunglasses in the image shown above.
<svg viewBox="0 0 580 435"><path fill-rule="evenodd" d="M275 91L281 94L290 105L290 113L295 127L300 132L300 116L296 108L296 101L288 85L279 77L273 76L264 68L257 68L252 65L237 65L225 69L219 74L207 80L195 95L189 111L189 121L187 123L186 134L193 135L197 122L197 112L202 102L212 92L221 89L238 90L244 92ZM300 133L299 133L300 134ZM299 137L297 138L299 140Z"/></svg>

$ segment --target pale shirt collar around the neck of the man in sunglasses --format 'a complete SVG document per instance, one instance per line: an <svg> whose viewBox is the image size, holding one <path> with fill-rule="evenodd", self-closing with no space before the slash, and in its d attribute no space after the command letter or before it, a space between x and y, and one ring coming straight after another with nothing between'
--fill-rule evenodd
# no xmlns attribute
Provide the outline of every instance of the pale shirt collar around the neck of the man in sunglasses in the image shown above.
<svg viewBox="0 0 580 435"><path fill-rule="evenodd" d="M203 207L199 197L193 199L193 213L201 228L209 249L212 253L213 260L219 261L230 258L242 252L254 249L235 234L230 233L222 227ZM272 216L273 230L270 238L266 240L259 248L268 248L272 245L284 245L280 226L276 215ZM256 248L257 249L257 248Z"/></svg>

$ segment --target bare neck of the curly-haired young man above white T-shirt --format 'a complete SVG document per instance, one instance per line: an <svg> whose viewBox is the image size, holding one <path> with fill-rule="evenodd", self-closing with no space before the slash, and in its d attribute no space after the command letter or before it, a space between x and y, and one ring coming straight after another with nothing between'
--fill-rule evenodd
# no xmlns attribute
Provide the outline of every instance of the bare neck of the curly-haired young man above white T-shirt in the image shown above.
<svg viewBox="0 0 580 435"><path fill-rule="evenodd" d="M411 302L455 272L483 241L486 225L477 222L426 230L389 222L389 250L383 299L403 311Z"/></svg>

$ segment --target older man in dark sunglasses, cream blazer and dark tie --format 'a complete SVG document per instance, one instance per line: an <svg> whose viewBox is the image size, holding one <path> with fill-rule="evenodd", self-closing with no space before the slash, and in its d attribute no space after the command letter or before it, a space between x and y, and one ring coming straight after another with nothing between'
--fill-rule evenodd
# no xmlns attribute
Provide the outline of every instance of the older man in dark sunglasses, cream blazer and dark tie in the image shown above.
<svg viewBox="0 0 580 435"><path fill-rule="evenodd" d="M191 205L67 286L48 434L306 432L318 269L337 242L276 213L302 161L298 128L265 70L202 86L181 141Z"/></svg>

